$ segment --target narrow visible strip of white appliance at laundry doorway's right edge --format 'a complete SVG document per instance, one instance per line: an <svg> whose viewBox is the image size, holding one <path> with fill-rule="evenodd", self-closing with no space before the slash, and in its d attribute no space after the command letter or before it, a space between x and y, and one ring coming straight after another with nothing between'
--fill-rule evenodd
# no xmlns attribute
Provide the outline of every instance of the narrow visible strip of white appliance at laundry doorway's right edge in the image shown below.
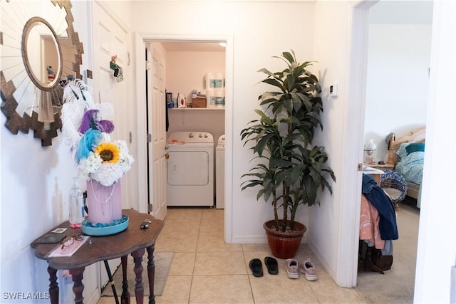
<svg viewBox="0 0 456 304"><path fill-rule="evenodd" d="M215 208L225 208L225 135L215 147Z"/></svg>

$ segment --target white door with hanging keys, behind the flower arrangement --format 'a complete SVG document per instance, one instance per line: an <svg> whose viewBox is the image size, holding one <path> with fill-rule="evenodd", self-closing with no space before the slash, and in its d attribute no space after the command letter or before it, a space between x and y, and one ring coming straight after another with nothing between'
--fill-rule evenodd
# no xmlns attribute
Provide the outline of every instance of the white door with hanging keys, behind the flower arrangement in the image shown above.
<svg viewBox="0 0 456 304"><path fill-rule="evenodd" d="M95 103L112 103L114 108L113 120L115 130L111 134L113 140L125 140L128 145L128 100L127 83L118 82L113 76L110 61L113 56L115 63L128 68L128 34L112 19L100 4L93 2L93 100ZM123 208L130 208L130 189L128 187L130 174L122 178ZM108 261L111 273L120 265L120 258ZM100 262L100 284L103 287L108 283L108 274L105 265ZM121 290L118 290L120 292Z"/></svg>

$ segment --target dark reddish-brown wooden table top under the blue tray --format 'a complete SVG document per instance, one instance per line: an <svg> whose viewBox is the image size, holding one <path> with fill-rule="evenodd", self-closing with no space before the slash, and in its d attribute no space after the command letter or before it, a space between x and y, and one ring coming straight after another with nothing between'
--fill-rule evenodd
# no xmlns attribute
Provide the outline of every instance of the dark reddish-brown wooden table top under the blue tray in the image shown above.
<svg viewBox="0 0 456 304"><path fill-rule="evenodd" d="M142 214L133 209L123 209L122 214L128 216L127 229L110 236L90 236L90 240L73 253L73 256L49 258L48 253L51 253L58 246L58 243L31 243L31 247L35 249L35 256L47 260L51 268L71 269L88 266L98 261L120 258L137 249L155 244L155 240L164 226L163 221L155 219L150 214ZM145 219L149 219L151 223L149 228L141 229L140 224ZM51 234L51 231L57 228L67 228L65 231L67 236L81 232L81 228L70 228L69 222L65 221L46 234Z"/></svg>

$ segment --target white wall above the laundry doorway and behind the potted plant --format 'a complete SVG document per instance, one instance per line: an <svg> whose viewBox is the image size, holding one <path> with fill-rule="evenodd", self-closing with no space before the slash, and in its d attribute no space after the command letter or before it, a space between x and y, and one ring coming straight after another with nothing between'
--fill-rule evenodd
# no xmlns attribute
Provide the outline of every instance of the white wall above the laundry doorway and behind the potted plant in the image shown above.
<svg viewBox="0 0 456 304"><path fill-rule="evenodd" d="M231 231L235 242L264 242L262 224L272 216L269 204L257 201L256 190L241 192L239 187L240 177L249 169L247 163L252 158L251 152L242 146L239 132L247 122L257 118L254 109L258 108L258 95L265 90L263 85L256 85L263 78L257 70L283 68L282 61L271 57L290 49L301 61L314 60L313 10L311 2L132 2L133 32L188 37L233 36L233 117L227 117L230 120L227 125L232 125L230 132L234 138L232 151L226 153L235 159ZM305 224L308 224L308 212L302 209L299 214L299 220Z"/></svg>

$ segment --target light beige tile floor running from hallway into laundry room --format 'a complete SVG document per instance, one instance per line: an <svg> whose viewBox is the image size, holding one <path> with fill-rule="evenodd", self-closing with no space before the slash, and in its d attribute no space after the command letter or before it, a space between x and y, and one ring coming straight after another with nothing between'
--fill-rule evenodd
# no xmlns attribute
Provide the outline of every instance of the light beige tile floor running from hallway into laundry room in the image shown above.
<svg viewBox="0 0 456 304"><path fill-rule="evenodd" d="M223 220L222 209L168 208L155 251L174 251L175 256L156 303L366 303L358 290L338 287L305 244L296 258L311 258L317 281L288 278L281 259L278 275L269 275L263 263L264 276L252 276L249 261L271 256L267 244L224 243ZM115 300L98 301L108 303Z"/></svg>

